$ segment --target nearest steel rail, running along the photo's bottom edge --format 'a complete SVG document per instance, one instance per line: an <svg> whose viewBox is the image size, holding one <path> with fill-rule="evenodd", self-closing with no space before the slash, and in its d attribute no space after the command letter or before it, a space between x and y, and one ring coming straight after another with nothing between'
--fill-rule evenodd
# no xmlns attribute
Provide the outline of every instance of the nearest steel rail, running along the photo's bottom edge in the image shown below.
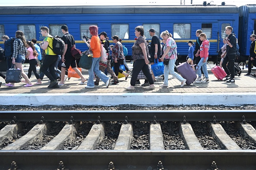
<svg viewBox="0 0 256 170"><path fill-rule="evenodd" d="M104 170L113 162L119 170L147 170L162 161L165 169L210 169L215 161L219 169L255 170L256 151L252 150L127 150L127 151L0 151L0 170L10 168L15 161L23 169L56 169L59 161L70 170Z"/></svg>

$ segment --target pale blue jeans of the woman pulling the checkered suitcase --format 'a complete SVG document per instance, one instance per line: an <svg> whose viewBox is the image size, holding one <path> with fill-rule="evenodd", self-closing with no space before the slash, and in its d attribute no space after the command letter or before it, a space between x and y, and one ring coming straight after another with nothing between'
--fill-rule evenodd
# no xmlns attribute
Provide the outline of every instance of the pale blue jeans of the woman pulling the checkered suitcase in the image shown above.
<svg viewBox="0 0 256 170"><path fill-rule="evenodd" d="M178 81L180 81L180 82L184 81L184 79L178 73L176 73L174 71L175 62L176 62L176 59L170 59L168 66L165 65L165 69L164 69L164 76L165 76L164 84L165 85L168 85L168 75L169 75L169 73L172 76L174 76L176 79L178 79Z"/></svg>

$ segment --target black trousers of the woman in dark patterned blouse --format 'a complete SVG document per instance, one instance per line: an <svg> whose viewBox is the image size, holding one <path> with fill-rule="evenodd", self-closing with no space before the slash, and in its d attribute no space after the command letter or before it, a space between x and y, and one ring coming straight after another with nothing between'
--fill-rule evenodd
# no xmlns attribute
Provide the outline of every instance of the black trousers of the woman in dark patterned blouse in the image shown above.
<svg viewBox="0 0 256 170"><path fill-rule="evenodd" d="M131 85L134 86L135 82L137 80L137 77L140 73L140 70L144 73L144 75L147 77L148 82L150 85L154 84L152 74L150 73L150 70L148 68L148 65L145 63L144 59L136 60L134 61L134 66L132 69L132 76L131 76Z"/></svg>

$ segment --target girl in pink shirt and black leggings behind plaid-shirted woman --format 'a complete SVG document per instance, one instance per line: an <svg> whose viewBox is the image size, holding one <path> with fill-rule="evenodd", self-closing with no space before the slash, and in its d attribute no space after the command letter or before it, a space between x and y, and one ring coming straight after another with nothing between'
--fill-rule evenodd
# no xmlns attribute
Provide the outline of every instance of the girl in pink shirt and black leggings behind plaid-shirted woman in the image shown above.
<svg viewBox="0 0 256 170"><path fill-rule="evenodd" d="M29 59L29 68L28 68L28 79L31 77L31 73L33 71L34 75L37 78L37 82L35 83L35 85L41 85L41 79L37 73L37 51L35 50L34 44L31 43L30 41L27 41L27 54L26 54L26 58ZM24 81L25 82L25 81Z"/></svg>

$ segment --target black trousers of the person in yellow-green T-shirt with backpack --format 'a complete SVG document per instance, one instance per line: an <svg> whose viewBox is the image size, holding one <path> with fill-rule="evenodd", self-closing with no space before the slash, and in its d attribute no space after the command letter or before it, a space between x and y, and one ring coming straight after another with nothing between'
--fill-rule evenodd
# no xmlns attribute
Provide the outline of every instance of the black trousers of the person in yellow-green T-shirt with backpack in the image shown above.
<svg viewBox="0 0 256 170"><path fill-rule="evenodd" d="M57 79L55 74L55 64L58 60L58 55L46 55L44 57L44 62L42 66L40 67L41 72L45 74L45 76L50 79L51 82ZM48 71L49 68L49 71Z"/></svg>

